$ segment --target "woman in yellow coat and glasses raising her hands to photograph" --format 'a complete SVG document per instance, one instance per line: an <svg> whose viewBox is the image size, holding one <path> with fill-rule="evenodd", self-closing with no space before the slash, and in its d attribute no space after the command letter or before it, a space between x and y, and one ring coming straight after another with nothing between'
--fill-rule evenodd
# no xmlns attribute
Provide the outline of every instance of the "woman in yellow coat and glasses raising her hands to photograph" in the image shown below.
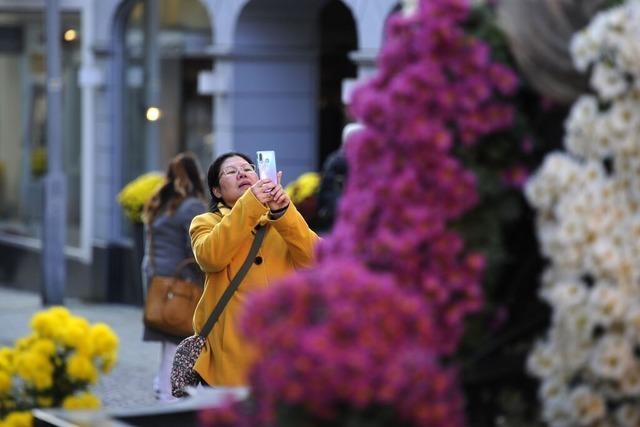
<svg viewBox="0 0 640 427"><path fill-rule="evenodd" d="M282 172L278 172L280 181ZM251 159L241 153L218 157L207 173L211 212L196 216L189 234L198 264L205 272L205 290L194 314L199 331L244 263L258 224L267 232L258 255L218 321L195 364L210 386L247 384L253 353L239 331L238 321L251 292L313 262L318 236L280 182L258 179Z"/></svg>

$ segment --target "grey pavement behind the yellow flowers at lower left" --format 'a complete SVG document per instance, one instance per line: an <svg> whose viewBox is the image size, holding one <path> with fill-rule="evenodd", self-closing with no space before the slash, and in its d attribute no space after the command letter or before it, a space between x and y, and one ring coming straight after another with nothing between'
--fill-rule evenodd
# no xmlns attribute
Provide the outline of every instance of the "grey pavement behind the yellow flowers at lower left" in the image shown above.
<svg viewBox="0 0 640 427"><path fill-rule="evenodd" d="M93 390L103 407L113 410L159 404L152 383L160 363L160 345L142 341L141 308L74 299L65 300L65 304L73 314L91 323L108 324L120 338L117 365ZM31 316L42 308L38 294L0 285L0 346L11 346L28 334Z"/></svg>

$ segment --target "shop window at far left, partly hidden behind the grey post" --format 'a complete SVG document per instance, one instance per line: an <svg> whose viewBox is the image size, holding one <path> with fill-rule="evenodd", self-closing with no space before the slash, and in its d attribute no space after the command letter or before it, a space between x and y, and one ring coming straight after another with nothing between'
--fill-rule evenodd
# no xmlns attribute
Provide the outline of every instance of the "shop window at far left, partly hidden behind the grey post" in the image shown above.
<svg viewBox="0 0 640 427"><path fill-rule="evenodd" d="M67 245L80 245L80 19L61 17ZM0 236L41 238L47 167L46 37L42 13L0 13Z"/></svg>

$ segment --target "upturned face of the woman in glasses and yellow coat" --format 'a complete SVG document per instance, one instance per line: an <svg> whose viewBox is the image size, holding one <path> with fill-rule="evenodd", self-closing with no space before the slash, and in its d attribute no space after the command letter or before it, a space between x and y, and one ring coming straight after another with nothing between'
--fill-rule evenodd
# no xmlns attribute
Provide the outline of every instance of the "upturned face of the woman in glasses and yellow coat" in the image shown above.
<svg viewBox="0 0 640 427"><path fill-rule="evenodd" d="M220 167L220 186L213 187L213 194L225 205L232 207L249 187L258 181L253 167L240 156L225 159Z"/></svg>

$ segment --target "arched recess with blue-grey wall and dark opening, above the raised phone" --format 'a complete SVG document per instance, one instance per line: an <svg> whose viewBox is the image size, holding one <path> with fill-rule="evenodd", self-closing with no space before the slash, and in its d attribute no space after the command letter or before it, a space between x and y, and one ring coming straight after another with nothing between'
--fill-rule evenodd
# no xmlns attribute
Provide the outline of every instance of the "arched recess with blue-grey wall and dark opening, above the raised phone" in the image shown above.
<svg viewBox="0 0 640 427"><path fill-rule="evenodd" d="M354 19L339 0L252 0L234 34L230 103L233 148L277 152L284 181L318 170L340 145L342 79L357 46ZM329 119L321 108L336 110Z"/></svg>

